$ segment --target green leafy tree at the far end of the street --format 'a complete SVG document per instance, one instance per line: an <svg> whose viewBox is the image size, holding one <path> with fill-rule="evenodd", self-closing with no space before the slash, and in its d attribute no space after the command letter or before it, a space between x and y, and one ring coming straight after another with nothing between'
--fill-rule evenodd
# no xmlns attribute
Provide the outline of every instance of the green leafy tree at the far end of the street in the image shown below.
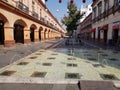
<svg viewBox="0 0 120 90"><path fill-rule="evenodd" d="M77 22L82 17L80 11L77 10L77 6L74 3L69 3L67 5L68 16L64 16L61 22L66 26L66 30L71 35L74 30L77 29Z"/></svg>

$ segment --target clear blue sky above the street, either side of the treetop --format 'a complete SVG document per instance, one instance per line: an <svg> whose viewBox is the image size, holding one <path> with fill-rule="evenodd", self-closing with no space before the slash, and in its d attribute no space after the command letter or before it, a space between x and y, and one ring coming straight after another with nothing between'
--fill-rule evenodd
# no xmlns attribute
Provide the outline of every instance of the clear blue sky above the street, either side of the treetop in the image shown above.
<svg viewBox="0 0 120 90"><path fill-rule="evenodd" d="M58 21L61 21L64 15L67 15L67 3L69 1L62 0L62 3L59 3L59 0L48 0L45 4ZM86 0L86 3L82 3L82 0L74 0L74 3L79 9L81 5L85 6L92 3L92 0Z"/></svg>

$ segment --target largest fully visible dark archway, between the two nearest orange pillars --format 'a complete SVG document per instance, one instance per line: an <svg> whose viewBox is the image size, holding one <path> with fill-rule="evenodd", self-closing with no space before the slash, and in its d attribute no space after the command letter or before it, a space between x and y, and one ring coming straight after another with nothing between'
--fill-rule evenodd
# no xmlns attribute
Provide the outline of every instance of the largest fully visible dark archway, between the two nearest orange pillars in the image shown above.
<svg viewBox="0 0 120 90"><path fill-rule="evenodd" d="M26 23L23 20L16 20L14 23L14 40L15 43L24 43L24 28Z"/></svg>

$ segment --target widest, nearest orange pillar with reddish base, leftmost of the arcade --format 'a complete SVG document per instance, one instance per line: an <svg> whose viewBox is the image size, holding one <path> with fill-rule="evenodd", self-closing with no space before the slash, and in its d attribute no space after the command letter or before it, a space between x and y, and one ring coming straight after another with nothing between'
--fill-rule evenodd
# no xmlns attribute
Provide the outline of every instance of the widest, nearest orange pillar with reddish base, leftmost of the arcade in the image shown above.
<svg viewBox="0 0 120 90"><path fill-rule="evenodd" d="M13 47L15 45L14 40L14 28L13 27L4 27L4 46Z"/></svg>

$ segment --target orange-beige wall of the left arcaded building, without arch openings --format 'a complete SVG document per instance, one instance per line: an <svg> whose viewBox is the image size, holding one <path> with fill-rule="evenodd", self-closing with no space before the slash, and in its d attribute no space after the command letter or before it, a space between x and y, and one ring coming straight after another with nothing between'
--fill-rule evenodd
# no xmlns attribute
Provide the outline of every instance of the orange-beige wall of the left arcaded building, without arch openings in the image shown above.
<svg viewBox="0 0 120 90"><path fill-rule="evenodd" d="M16 1L18 1L18 0L16 0ZM32 4L31 3L32 0L31 1L23 0L23 1L24 1L23 3L26 6L29 6L29 10L31 11L32 9L30 7ZM37 1L37 0L34 0L34 1ZM5 44L5 46L13 46L15 43L14 24L16 21L20 21L24 25L24 31L23 31L24 32L24 43L30 42L30 27L32 25L35 26L35 30L34 30L34 39L35 40L34 41L36 41L36 42L39 41L39 29L40 29L40 27L43 28L43 30L41 31L41 40L44 40L45 36L46 36L46 39L60 37L61 33L58 33L58 31L56 31L55 29L52 29L52 28L48 27L47 25L42 25L42 24L36 22L36 20L34 20L35 18L32 18L31 16L29 16L27 14L26 14L27 17L30 17L31 19L26 18L24 16L25 13L23 13L22 11L19 11L19 13L23 13L23 14L19 14L17 9L12 10L11 7L12 6L15 7L15 5L16 5L16 2L13 2L13 0L9 0L9 2L7 2L7 3L10 3L10 6L7 7L8 9L0 7L0 20L4 21L4 34L5 34L4 35L5 36L4 44ZM0 1L0 4L1 4L1 1ZM9 10L9 8L10 8L10 10ZM39 13L38 8L41 8L41 7L40 7L40 5L37 5L37 2L36 2L35 12ZM46 11L43 11L43 12L44 12L43 15L47 14ZM48 18L52 18L51 16L49 16L49 14L47 14L47 15L48 15ZM58 26L58 27L60 28L60 26ZM46 35L44 35L45 29L47 30ZM50 31L50 33L48 33L49 31Z"/></svg>

